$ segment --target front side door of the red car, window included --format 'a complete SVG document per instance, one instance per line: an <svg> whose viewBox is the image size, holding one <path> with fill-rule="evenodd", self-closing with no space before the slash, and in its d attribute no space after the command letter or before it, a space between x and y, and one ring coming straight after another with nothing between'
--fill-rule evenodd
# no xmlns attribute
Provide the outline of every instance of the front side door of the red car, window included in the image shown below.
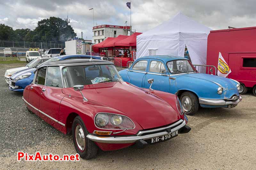
<svg viewBox="0 0 256 170"><path fill-rule="evenodd" d="M45 86L42 88L40 97L39 110L43 112L45 121L56 129L59 129L59 125L65 125L65 122L59 122L60 101L63 97L60 67L48 67Z"/></svg>

